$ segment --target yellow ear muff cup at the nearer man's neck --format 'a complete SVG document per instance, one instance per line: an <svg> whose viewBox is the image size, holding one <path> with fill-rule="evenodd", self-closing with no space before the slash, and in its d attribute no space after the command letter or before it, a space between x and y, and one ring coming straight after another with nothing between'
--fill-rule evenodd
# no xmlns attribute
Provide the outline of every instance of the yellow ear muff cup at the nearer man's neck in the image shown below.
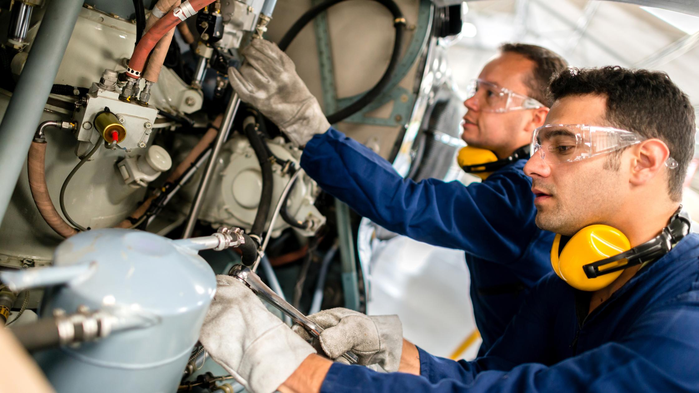
<svg viewBox="0 0 699 393"><path fill-rule="evenodd" d="M626 235L609 225L596 224L584 227L570 238L559 255L560 239L561 235L556 235L551 250L551 264L554 271L570 286L583 291L601 290L616 280L622 272L620 270L596 278L588 278L582 269L583 265L613 257L631 248ZM610 262L600 266L600 269L609 269L621 264L626 264L626 259Z"/></svg>

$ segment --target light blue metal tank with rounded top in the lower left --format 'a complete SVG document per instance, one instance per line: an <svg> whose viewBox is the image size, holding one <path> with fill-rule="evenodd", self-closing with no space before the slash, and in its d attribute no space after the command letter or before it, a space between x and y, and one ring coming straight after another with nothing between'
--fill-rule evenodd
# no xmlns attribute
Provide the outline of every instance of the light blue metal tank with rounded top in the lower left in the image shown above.
<svg viewBox="0 0 699 393"><path fill-rule="evenodd" d="M96 229L59 245L54 266L93 263L90 273L46 291L41 316L113 309L150 327L35 357L59 393L173 393L216 290L196 244L128 229ZM52 269L52 268L48 268Z"/></svg>

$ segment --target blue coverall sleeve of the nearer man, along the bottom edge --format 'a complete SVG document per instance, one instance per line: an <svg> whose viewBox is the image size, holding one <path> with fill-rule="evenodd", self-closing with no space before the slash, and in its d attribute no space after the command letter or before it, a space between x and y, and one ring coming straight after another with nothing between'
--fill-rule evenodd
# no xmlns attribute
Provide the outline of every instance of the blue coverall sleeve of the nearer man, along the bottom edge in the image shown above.
<svg viewBox="0 0 699 393"><path fill-rule="evenodd" d="M525 363L510 370L484 370L477 362L428 359L431 366L444 368L442 375L452 374L431 380L424 371L423 376L412 376L333 364L322 392L609 393L637 392L640 387L644 392L697 392L697 300L649 310L630 326L624 339L552 366Z"/></svg>

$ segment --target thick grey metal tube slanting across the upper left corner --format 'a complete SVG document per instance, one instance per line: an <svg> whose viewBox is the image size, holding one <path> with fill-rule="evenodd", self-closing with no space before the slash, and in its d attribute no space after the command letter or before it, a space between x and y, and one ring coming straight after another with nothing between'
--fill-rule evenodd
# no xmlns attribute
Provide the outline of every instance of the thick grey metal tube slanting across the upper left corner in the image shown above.
<svg viewBox="0 0 699 393"><path fill-rule="evenodd" d="M27 63L0 123L0 168L3 169L0 221L20 178L29 144L41 120L44 103L51 92L82 3L84 0L48 3Z"/></svg>

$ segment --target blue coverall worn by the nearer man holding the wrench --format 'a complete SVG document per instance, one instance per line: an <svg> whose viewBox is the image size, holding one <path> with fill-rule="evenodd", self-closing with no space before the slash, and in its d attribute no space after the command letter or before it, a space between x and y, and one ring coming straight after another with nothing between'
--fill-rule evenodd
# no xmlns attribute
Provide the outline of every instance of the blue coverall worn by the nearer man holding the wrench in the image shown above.
<svg viewBox="0 0 699 393"><path fill-rule="evenodd" d="M588 315L590 292L549 274L485 357L419 350L421 376L333 364L321 392L699 392L699 235Z"/></svg>

